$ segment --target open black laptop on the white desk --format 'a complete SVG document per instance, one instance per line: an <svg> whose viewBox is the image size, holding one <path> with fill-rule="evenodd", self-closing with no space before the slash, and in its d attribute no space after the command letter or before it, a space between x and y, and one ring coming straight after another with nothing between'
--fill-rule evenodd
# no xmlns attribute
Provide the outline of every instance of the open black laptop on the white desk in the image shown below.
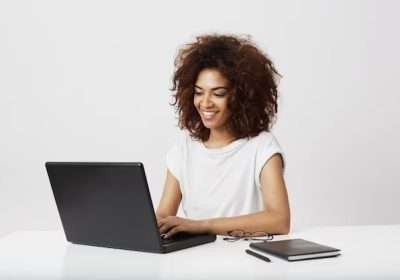
<svg viewBox="0 0 400 280"><path fill-rule="evenodd" d="M169 253L213 242L215 235L161 237L141 162L46 162L67 241Z"/></svg>

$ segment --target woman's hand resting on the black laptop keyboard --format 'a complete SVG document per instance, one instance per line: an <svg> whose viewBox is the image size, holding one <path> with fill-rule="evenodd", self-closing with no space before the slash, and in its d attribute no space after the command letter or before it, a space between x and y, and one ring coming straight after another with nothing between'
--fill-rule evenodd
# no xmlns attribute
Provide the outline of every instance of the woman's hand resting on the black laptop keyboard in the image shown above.
<svg viewBox="0 0 400 280"><path fill-rule="evenodd" d="M196 221L177 216L158 216L157 224L160 228L160 233L165 234L165 238L171 237L178 232L206 233L208 231L207 221Z"/></svg>

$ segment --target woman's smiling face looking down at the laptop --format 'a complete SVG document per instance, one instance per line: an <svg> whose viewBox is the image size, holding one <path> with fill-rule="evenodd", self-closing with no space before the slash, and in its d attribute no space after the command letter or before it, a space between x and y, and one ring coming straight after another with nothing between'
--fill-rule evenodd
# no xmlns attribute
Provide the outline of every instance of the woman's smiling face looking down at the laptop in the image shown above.
<svg viewBox="0 0 400 280"><path fill-rule="evenodd" d="M195 83L194 106L205 127L223 129L231 115L228 110L229 81L216 69L202 70Z"/></svg>

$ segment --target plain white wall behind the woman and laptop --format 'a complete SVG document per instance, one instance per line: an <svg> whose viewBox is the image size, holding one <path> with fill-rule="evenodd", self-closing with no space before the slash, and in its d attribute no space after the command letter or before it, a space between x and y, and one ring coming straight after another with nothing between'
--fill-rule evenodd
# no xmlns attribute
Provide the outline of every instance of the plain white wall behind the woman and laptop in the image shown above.
<svg viewBox="0 0 400 280"><path fill-rule="evenodd" d="M177 48L251 34L283 74L293 225L399 223L398 1L1 1L0 234L60 229L45 161L142 161L158 203Z"/></svg>

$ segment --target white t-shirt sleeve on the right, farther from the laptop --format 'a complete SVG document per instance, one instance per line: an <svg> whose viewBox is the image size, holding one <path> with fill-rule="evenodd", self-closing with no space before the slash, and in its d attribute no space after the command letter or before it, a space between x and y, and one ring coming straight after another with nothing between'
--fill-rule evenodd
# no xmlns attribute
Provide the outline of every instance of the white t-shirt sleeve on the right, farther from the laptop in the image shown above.
<svg viewBox="0 0 400 280"><path fill-rule="evenodd" d="M283 161L283 171L286 166L286 156L276 138L271 133L263 133L257 147L255 180L256 186L261 187L261 171L268 160L275 154L280 154Z"/></svg>

